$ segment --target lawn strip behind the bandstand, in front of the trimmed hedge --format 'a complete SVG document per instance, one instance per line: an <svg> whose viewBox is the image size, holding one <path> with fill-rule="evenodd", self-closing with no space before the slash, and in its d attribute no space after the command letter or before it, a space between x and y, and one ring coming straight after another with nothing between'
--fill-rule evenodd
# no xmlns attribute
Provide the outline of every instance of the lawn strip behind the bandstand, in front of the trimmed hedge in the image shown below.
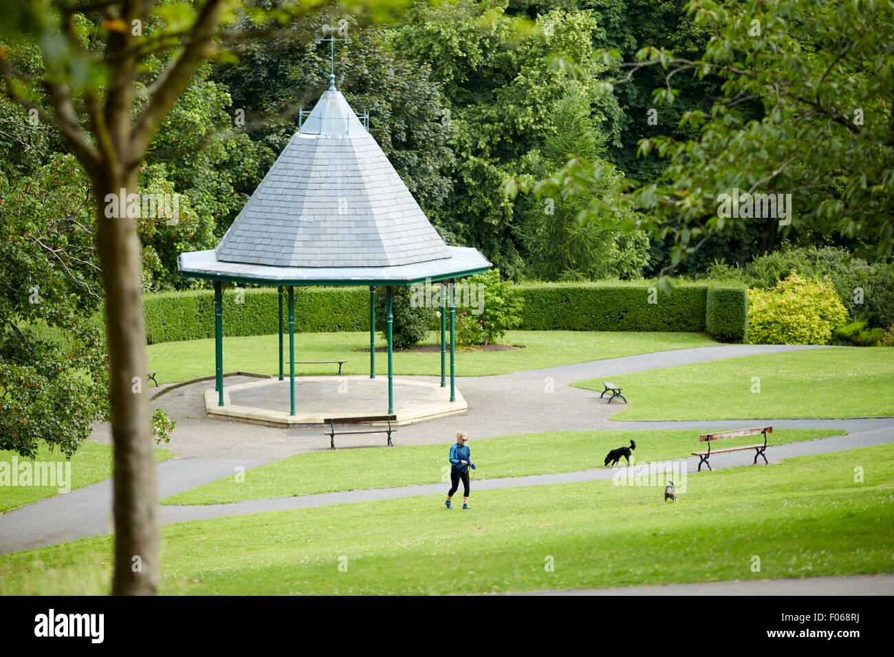
<svg viewBox="0 0 894 657"><path fill-rule="evenodd" d="M440 333L429 333L425 344L440 344ZM599 358L617 358L717 342L702 333L637 333L583 331L510 331L501 341L524 349L505 351L459 350L456 372L460 376L502 375L538 367L582 363ZM384 346L376 334L376 348ZM366 351L363 351L366 350ZM300 333L295 336L296 360L342 360L343 372L369 373L369 333ZM215 373L215 341L162 342L148 346L149 368L161 374L162 383L174 383ZM285 371L289 370L289 337L284 340ZM449 354L447 356L450 358ZM296 375L335 374L338 366L296 365ZM394 373L441 375L441 354L396 352ZM448 363L449 367L449 363ZM251 335L223 338L223 369L273 375L279 372L279 336ZM375 354L377 374L388 373L384 353Z"/></svg>

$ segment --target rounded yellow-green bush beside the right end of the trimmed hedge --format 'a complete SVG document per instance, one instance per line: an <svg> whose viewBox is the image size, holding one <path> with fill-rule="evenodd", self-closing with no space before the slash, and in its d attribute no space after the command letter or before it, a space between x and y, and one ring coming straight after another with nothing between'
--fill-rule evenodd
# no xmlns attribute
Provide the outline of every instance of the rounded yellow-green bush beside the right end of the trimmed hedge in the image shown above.
<svg viewBox="0 0 894 657"><path fill-rule="evenodd" d="M794 270L769 290L748 290L749 344L827 344L848 321L828 277L808 281Z"/></svg>

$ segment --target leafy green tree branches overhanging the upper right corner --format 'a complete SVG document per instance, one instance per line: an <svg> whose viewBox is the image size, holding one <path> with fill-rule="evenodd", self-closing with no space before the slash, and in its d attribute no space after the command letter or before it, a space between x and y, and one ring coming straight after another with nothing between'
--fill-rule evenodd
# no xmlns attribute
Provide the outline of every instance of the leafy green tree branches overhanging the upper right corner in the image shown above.
<svg viewBox="0 0 894 657"><path fill-rule="evenodd" d="M809 229L814 240L847 240L857 255L890 261L894 106L887 99L894 55L881 34L894 29L894 2L693 0L687 6L698 25L714 32L704 55L690 60L644 48L637 65L667 72L656 100L668 104L679 93L675 81L689 75L721 76L723 93L709 111L684 115L699 128L696 139L642 143L643 152L667 157L668 168L630 194L649 213L637 225L654 238L672 237L671 265L708 238L755 224L780 235ZM608 63L620 59L603 55ZM741 108L752 98L763 105L759 120ZM587 190L598 171L574 165L559 184ZM789 194L789 212L726 215L721 195L733 190Z"/></svg>

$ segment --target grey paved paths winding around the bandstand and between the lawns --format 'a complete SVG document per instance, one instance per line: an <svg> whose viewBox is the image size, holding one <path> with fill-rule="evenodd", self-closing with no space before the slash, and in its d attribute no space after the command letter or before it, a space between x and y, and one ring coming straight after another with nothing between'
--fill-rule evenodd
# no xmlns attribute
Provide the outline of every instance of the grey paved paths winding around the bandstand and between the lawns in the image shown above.
<svg viewBox="0 0 894 657"><path fill-rule="evenodd" d="M588 363L527 370L509 375L462 377L460 386L469 409L461 416L442 417L418 425L401 426L396 434L399 444L451 442L460 428L473 438L544 431L685 428L693 431L736 428L761 424L764 420L722 420L708 422L612 422L608 416L622 408L599 400L592 391L569 387L580 379L671 367L720 358L734 358L789 350L822 349L773 345L724 345L691 350L662 351L641 356L595 360ZM430 377L433 378L434 377ZM257 467L293 453L328 449L328 438L319 428L279 429L261 425L205 417L200 392L207 382L195 383L163 395L164 408L177 420L178 431L171 449L182 456L157 465L159 495L189 490L224 476L236 467ZM524 409L524 412L519 412ZM825 451L848 450L894 441L894 418L791 419L766 420L775 426L840 428L847 436L790 443L772 447L768 458L778 460ZM103 440L107 427L99 426L95 437ZM346 447L368 446L368 439ZM107 440L107 436L105 438ZM697 459L689 463L695 473ZM712 459L715 467L750 465L752 457L744 452L719 454ZM476 490L515 486L557 484L609 479L613 470L596 468L580 472L506 477L476 482ZM205 506L160 507L163 524L257 513L300 509L352 501L384 500L410 495L443 493L444 484L422 484L397 488L323 493L274 500L244 501ZM79 538L108 534L111 525L111 481L92 484L0 515L0 553L28 550L43 545L64 543Z"/></svg>

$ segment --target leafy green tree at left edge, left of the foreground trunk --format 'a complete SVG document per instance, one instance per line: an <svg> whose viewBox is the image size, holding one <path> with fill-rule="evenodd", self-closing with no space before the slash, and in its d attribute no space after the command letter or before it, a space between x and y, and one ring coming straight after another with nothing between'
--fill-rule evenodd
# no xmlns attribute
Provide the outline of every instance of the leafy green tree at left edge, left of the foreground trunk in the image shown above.
<svg viewBox="0 0 894 657"><path fill-rule="evenodd" d="M0 450L71 456L106 412L105 341L85 320L102 299L93 204L72 157L54 155L0 176L0 212Z"/></svg>

